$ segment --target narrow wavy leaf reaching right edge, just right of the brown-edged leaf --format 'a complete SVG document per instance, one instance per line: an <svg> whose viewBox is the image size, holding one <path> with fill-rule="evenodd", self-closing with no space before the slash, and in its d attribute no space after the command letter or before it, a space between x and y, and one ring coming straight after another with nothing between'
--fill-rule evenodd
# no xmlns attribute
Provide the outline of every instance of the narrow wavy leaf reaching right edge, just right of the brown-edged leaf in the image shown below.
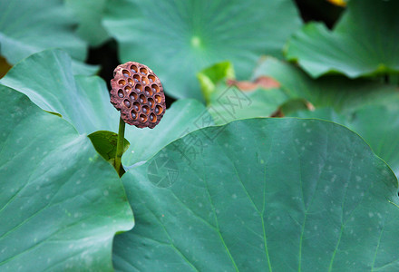
<svg viewBox="0 0 399 272"><path fill-rule="evenodd" d="M345 112L367 104L399 102L395 86L337 75L314 80L294 65L273 58L258 66L254 78L259 76L275 79L290 99L305 99L316 108L333 107Z"/></svg>

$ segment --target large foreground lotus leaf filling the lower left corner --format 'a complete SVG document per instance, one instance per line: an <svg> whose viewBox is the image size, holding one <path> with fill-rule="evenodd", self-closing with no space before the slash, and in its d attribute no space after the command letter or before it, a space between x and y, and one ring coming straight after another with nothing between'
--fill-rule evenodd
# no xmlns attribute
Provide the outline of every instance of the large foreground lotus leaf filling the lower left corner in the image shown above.
<svg viewBox="0 0 399 272"><path fill-rule="evenodd" d="M133 226L115 170L71 124L0 93L0 270L112 271L112 238Z"/></svg>

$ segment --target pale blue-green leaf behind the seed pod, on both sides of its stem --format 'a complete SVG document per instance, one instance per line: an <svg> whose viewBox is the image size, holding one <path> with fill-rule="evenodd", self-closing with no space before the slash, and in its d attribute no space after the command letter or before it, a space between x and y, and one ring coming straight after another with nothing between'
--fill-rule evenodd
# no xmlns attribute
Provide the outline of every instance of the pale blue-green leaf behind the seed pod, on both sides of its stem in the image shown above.
<svg viewBox="0 0 399 272"><path fill-rule="evenodd" d="M0 84L23 92L45 111L61 114L81 134L118 131L119 115L110 103L105 83L97 76L73 76L71 58L60 50L35 53L17 63ZM147 160L170 141L211 124L200 102L176 102L156 129L126 129L131 147L123 163L131 166Z"/></svg>

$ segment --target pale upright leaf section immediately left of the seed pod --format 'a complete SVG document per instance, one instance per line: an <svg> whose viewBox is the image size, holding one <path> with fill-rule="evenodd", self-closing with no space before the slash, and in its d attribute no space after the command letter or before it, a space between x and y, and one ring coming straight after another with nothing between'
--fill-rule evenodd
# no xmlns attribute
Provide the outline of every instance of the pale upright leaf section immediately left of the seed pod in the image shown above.
<svg viewBox="0 0 399 272"><path fill-rule="evenodd" d="M23 92L45 111L60 113L80 133L118 131L118 112L105 83L97 76L73 76L71 58L61 50L29 56L0 83Z"/></svg>

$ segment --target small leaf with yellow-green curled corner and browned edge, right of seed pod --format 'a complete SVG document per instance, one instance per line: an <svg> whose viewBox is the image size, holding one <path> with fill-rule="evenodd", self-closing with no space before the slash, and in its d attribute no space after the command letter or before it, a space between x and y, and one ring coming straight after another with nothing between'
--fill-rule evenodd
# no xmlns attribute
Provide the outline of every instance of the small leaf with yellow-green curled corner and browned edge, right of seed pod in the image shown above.
<svg viewBox="0 0 399 272"><path fill-rule="evenodd" d="M235 81L231 63L217 63L197 76L208 111L217 124L245 118L269 117L288 99L287 94L278 87L266 88L258 83Z"/></svg>

